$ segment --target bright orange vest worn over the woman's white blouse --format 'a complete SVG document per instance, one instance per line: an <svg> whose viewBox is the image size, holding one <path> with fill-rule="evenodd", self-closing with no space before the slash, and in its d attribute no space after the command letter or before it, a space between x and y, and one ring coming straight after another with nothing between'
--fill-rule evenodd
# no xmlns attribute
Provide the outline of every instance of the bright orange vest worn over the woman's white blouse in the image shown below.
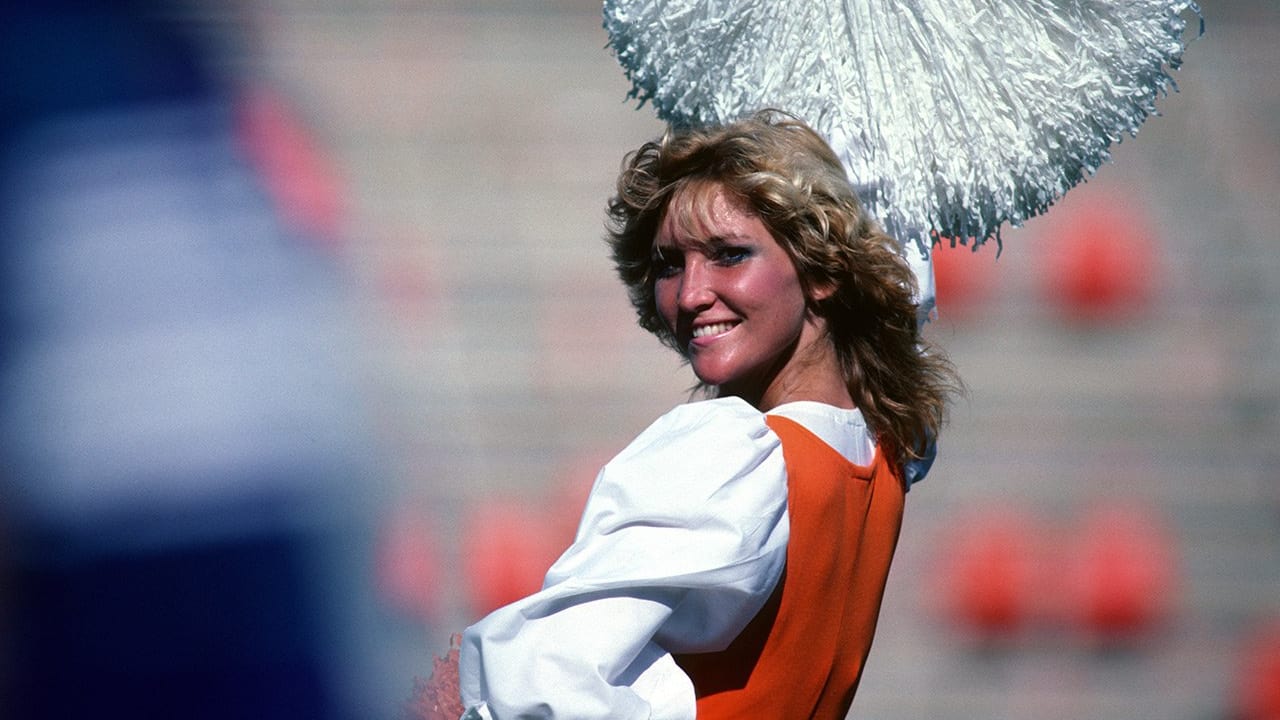
<svg viewBox="0 0 1280 720"><path fill-rule="evenodd" d="M851 464L799 423L768 416L787 465L791 539L773 596L723 651L677 655L698 720L842 720L870 652L902 524L901 475Z"/></svg>

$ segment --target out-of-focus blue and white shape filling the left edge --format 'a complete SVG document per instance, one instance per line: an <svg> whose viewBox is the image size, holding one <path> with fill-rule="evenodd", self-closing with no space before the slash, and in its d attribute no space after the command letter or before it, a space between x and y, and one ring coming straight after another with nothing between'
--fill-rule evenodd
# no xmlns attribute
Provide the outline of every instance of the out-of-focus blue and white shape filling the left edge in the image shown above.
<svg viewBox="0 0 1280 720"><path fill-rule="evenodd" d="M343 286L197 49L133 8L0 23L0 706L342 717L369 462Z"/></svg>

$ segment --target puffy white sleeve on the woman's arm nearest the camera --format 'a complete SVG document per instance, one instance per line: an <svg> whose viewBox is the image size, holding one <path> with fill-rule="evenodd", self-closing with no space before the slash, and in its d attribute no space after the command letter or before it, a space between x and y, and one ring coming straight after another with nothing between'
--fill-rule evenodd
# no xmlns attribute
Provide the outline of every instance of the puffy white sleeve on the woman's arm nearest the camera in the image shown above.
<svg viewBox="0 0 1280 720"><path fill-rule="evenodd" d="M782 573L786 466L737 398L684 405L600 470L543 589L466 630L468 716L694 717L671 652L726 647Z"/></svg>

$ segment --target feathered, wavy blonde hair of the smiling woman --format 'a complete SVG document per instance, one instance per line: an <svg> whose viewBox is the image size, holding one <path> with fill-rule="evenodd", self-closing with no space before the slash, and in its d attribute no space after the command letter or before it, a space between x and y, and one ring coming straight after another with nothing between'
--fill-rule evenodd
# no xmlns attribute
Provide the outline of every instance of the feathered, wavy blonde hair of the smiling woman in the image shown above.
<svg viewBox="0 0 1280 720"><path fill-rule="evenodd" d="M900 457L918 457L959 379L920 337L915 277L897 243L863 209L827 142L786 113L669 129L626 156L608 241L640 327L680 351L654 300L654 236L668 213L698 222L708 187L741 199L787 251L868 425Z"/></svg>

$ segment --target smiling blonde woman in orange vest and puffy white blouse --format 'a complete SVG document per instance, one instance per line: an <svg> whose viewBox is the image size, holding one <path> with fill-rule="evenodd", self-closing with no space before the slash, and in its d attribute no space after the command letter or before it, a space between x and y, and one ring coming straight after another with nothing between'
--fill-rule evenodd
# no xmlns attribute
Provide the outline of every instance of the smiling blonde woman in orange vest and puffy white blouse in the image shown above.
<svg viewBox="0 0 1280 720"><path fill-rule="evenodd" d="M911 270L782 113L645 143L609 220L701 395L600 470L543 589L466 630L466 717L842 719L959 382Z"/></svg>

